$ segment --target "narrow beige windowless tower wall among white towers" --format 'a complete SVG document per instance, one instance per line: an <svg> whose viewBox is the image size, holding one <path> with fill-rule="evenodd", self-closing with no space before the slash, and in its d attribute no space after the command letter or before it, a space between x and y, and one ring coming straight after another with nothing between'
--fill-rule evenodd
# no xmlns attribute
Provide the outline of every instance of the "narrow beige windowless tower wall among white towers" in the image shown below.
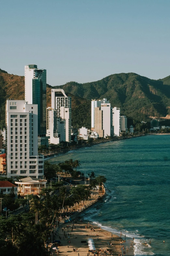
<svg viewBox="0 0 170 256"><path fill-rule="evenodd" d="M101 107L94 108L94 115L95 115L95 132L98 133L99 137L104 137L104 130L103 130L103 110Z"/></svg>

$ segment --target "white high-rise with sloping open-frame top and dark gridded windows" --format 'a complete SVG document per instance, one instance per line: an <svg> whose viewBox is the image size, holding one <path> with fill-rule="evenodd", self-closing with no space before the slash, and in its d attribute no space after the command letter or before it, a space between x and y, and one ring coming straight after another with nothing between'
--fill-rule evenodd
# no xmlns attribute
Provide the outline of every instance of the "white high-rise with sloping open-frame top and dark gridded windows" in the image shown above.
<svg viewBox="0 0 170 256"><path fill-rule="evenodd" d="M65 119L65 140L71 141L71 97L63 89L52 89L51 107L57 110L57 117Z"/></svg>

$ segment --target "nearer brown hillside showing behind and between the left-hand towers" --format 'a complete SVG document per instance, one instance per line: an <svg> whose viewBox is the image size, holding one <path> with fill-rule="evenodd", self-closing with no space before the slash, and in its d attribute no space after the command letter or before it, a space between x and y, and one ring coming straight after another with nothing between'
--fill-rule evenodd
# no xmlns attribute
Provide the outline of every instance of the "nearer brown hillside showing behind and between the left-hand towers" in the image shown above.
<svg viewBox="0 0 170 256"><path fill-rule="evenodd" d="M47 84L47 107L51 106L51 88ZM91 102L76 97L72 97L72 125L74 127L91 127ZM24 76L8 74L0 69L0 129L5 127L5 102L8 98L24 100Z"/></svg>

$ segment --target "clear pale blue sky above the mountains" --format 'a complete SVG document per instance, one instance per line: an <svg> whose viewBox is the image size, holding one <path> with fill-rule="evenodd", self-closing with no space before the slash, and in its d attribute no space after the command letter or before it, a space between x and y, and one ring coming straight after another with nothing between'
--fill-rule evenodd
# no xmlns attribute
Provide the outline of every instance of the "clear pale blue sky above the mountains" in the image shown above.
<svg viewBox="0 0 170 256"><path fill-rule="evenodd" d="M169 0L4 0L0 68L47 69L47 83L92 82L122 72L170 75Z"/></svg>

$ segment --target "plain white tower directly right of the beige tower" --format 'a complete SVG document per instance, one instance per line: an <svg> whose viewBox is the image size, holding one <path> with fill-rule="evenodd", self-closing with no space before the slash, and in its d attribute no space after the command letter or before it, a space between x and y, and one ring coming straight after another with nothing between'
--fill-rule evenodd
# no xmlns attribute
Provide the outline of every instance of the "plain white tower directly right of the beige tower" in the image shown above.
<svg viewBox="0 0 170 256"><path fill-rule="evenodd" d="M102 103L101 110L103 111L103 130L104 137L113 135L112 132L112 111L110 103Z"/></svg>

